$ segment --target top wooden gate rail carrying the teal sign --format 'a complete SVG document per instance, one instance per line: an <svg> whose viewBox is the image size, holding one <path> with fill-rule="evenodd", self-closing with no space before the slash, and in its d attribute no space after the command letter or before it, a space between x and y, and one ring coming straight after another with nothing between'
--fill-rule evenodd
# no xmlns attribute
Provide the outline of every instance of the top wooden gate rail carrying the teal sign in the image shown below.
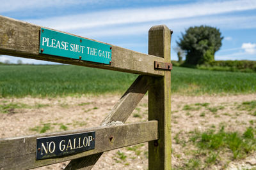
<svg viewBox="0 0 256 170"><path fill-rule="evenodd" d="M27 22L20 22L19 20L13 20L12 18L3 16L0 16L0 23L0 54L60 62L65 64L74 64L77 66L97 67L127 73L145 74L152 76L163 76L164 74L163 71L154 69L154 61L163 62L163 59L154 55L147 55L144 53L127 50L115 45L111 45L111 66L86 62L83 60L79 61L65 57L40 54L40 26L29 24Z"/></svg>

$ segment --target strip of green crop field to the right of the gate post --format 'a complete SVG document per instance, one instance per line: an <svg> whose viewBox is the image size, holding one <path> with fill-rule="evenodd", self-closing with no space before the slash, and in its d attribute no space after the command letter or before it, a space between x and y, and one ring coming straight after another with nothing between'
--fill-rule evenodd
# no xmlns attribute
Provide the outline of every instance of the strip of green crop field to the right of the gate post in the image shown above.
<svg viewBox="0 0 256 170"><path fill-rule="evenodd" d="M256 92L256 73L209 71L173 67L172 93L250 94Z"/></svg>

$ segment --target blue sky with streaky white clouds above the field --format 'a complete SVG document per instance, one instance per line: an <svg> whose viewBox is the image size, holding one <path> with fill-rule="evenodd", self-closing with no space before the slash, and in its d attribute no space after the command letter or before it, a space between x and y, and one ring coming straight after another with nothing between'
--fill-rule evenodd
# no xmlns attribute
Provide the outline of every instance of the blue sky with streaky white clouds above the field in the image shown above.
<svg viewBox="0 0 256 170"><path fill-rule="evenodd" d="M173 50L189 27L208 25L223 36L216 60L256 60L256 1L179 0L0 0L0 15L96 39L141 53L148 52L148 30L167 25ZM51 64L0 56L0 62Z"/></svg>

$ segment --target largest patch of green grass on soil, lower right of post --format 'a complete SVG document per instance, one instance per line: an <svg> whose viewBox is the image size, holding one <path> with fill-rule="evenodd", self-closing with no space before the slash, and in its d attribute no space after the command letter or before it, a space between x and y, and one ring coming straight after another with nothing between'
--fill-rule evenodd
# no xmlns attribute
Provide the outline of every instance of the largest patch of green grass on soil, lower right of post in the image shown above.
<svg viewBox="0 0 256 170"><path fill-rule="evenodd" d="M186 142L186 158L181 158L183 163L174 169L212 169L212 165L221 165L224 168L232 160L244 159L255 153L255 135L256 130L253 127L246 128L244 132L227 132L224 126L218 131L211 128L206 131L195 129L189 132L189 139L183 141ZM180 143L179 138L182 137L177 133L174 137L175 143Z"/></svg>

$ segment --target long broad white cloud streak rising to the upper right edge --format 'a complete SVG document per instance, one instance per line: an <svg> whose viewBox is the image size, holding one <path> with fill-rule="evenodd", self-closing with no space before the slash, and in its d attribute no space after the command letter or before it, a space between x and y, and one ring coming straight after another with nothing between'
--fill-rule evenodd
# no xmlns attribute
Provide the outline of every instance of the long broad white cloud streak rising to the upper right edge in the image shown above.
<svg viewBox="0 0 256 170"><path fill-rule="evenodd" d="M99 26L108 28L109 25L157 22L253 9L256 9L256 1L210 1L206 3L188 3L152 8L124 8L28 21L44 25L45 27L70 31Z"/></svg>

